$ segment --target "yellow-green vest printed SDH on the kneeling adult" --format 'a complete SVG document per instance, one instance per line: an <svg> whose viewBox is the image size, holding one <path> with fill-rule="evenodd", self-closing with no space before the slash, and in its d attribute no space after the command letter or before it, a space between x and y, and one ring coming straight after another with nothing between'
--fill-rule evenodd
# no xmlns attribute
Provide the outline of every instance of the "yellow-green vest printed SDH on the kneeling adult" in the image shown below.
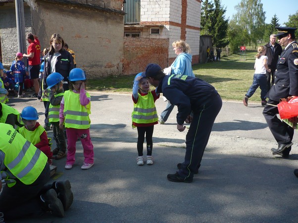
<svg viewBox="0 0 298 223"><path fill-rule="evenodd" d="M32 184L44 170L48 157L10 125L0 123L0 150L4 165L24 184ZM7 184L8 187L14 184Z"/></svg>

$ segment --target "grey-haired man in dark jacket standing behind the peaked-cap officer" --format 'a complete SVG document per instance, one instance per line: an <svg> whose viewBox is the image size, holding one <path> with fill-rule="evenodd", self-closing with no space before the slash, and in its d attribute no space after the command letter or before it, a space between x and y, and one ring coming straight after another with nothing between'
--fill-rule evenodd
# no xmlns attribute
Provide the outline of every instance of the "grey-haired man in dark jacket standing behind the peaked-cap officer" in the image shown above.
<svg viewBox="0 0 298 223"><path fill-rule="evenodd" d="M283 49L281 45L276 43L276 37L275 34L270 35L270 42L265 45L266 47L266 54L265 56L268 57L267 60L267 65L269 69L271 70L270 72L266 72L266 77L267 77L267 90L269 91L271 86L274 83L274 73L277 65L278 58L280 54L282 53ZM270 83L271 79L271 83Z"/></svg>

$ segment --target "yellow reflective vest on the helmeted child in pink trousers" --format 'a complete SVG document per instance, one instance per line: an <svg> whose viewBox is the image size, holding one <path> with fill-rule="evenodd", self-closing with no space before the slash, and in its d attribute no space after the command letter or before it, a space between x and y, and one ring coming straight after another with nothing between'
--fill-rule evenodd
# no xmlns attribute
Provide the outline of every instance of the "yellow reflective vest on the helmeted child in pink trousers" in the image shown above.
<svg viewBox="0 0 298 223"><path fill-rule="evenodd" d="M87 97L90 98L90 94L86 92ZM80 104L80 94L75 93L72 90L66 90L64 92L64 123L65 128L74 129L89 129L90 118L89 114L91 109L91 103L86 106Z"/></svg>

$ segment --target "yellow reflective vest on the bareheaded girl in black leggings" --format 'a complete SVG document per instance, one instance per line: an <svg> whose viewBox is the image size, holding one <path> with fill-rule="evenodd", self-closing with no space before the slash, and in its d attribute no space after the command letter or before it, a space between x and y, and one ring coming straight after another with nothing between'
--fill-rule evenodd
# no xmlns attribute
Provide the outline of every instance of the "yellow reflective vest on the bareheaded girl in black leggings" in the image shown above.
<svg viewBox="0 0 298 223"><path fill-rule="evenodd" d="M134 111L132 112L132 121L140 124L149 124L158 121L151 91L147 95L142 96L140 93L138 95L138 102L134 104Z"/></svg>

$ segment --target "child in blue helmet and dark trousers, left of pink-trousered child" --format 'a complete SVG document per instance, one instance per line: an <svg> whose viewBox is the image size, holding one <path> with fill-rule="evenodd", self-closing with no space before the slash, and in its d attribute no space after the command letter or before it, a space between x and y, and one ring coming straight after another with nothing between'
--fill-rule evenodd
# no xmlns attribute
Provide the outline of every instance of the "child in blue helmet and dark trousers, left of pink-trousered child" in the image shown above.
<svg viewBox="0 0 298 223"><path fill-rule="evenodd" d="M50 89L49 99L49 122L53 125L53 135L56 141L56 148L53 149L55 159L59 160L66 156L66 140L63 129L59 128L59 109L60 103L64 95L63 77L61 74L55 72L47 77L47 85Z"/></svg>

